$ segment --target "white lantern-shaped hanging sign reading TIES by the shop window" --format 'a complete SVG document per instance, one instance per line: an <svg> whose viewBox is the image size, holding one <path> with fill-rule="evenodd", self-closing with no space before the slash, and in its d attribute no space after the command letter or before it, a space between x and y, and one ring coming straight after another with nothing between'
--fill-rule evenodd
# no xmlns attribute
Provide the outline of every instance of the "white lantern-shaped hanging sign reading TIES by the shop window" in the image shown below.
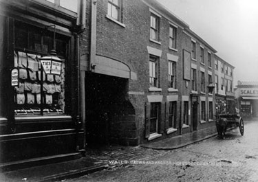
<svg viewBox="0 0 258 182"><path fill-rule="evenodd" d="M46 74L61 75L62 60L56 56L44 56L40 58L41 65Z"/></svg>

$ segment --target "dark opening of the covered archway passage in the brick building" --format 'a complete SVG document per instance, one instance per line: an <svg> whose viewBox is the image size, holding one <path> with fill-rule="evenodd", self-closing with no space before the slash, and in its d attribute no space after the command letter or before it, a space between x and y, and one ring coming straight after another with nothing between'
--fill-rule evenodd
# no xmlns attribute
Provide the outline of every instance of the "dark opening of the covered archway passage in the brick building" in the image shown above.
<svg viewBox="0 0 258 182"><path fill-rule="evenodd" d="M110 144L111 126L125 102L128 79L88 73L85 78L87 146Z"/></svg>

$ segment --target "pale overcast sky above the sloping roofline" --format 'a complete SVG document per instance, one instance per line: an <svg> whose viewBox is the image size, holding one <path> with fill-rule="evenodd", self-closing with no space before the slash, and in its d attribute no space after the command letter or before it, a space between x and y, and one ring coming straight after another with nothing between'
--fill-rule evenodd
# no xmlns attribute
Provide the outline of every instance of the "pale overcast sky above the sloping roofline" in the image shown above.
<svg viewBox="0 0 258 182"><path fill-rule="evenodd" d="M257 0L157 0L217 50L237 80L258 82Z"/></svg>

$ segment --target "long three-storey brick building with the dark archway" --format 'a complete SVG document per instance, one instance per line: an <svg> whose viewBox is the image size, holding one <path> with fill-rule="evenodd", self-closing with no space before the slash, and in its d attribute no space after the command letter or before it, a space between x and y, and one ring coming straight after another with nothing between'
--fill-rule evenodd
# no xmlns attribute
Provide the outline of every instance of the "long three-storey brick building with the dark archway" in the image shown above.
<svg viewBox="0 0 258 182"><path fill-rule="evenodd" d="M87 144L215 131L211 45L155 0L87 1L87 8L80 37Z"/></svg>

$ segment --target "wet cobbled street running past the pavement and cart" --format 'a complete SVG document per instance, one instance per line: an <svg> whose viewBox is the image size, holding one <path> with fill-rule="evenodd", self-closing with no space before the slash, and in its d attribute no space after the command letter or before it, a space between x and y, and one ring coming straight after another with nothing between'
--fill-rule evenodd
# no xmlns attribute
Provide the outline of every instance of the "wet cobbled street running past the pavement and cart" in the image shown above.
<svg viewBox="0 0 258 182"><path fill-rule="evenodd" d="M226 133L225 139L212 137L177 150L137 147L135 152L128 150L129 158L113 157L118 161L109 163L107 170L64 181L255 182L258 181L257 128L258 121L246 121L244 136L235 128Z"/></svg>

